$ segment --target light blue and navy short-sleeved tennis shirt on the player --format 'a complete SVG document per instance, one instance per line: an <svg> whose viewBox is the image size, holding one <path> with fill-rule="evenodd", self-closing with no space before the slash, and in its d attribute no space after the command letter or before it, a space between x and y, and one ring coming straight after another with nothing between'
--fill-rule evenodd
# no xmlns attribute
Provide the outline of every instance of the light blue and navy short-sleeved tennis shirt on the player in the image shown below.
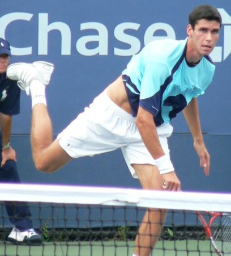
<svg viewBox="0 0 231 256"><path fill-rule="evenodd" d="M192 98L204 94L215 65L204 56L197 65L186 62L185 40L152 41L123 70L127 96L136 116L138 107L151 112L156 126L169 123Z"/></svg>

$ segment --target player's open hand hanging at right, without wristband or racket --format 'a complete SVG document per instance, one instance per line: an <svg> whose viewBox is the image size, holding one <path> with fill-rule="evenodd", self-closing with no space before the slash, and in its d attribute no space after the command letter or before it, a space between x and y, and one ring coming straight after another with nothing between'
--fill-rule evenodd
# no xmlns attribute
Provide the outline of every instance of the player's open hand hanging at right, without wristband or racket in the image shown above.
<svg viewBox="0 0 231 256"><path fill-rule="evenodd" d="M204 174L208 176L210 167L210 156L203 142L194 142L194 148L200 158L200 167L204 169Z"/></svg>

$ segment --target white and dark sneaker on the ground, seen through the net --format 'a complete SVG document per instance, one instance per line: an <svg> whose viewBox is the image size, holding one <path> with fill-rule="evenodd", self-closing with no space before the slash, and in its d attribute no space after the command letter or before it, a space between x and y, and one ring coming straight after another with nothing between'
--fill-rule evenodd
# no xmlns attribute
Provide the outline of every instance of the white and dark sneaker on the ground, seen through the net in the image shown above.
<svg viewBox="0 0 231 256"><path fill-rule="evenodd" d="M41 234L36 233L34 229L20 231L15 226L8 235L7 240L13 244L41 245L42 243Z"/></svg>

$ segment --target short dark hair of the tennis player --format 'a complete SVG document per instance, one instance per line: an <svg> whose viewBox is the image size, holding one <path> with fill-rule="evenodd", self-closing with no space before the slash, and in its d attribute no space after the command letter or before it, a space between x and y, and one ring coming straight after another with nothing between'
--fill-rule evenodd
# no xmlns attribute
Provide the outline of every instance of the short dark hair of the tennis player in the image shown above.
<svg viewBox="0 0 231 256"><path fill-rule="evenodd" d="M216 7L211 5L199 5L189 14L189 24L194 29L196 23L201 19L216 20L218 23L222 23L220 12L217 11Z"/></svg>

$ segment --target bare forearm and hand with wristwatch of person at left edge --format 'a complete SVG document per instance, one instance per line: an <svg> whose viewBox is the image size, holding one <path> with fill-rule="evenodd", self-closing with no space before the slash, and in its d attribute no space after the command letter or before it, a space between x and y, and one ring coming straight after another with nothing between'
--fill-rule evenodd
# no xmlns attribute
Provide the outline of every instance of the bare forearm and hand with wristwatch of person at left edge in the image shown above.
<svg viewBox="0 0 231 256"><path fill-rule="evenodd" d="M12 116L5 115L0 112L0 124L2 132L2 162L1 166L4 166L7 160L16 161L15 150L9 146L10 135L11 135L11 125ZM8 145L8 146L7 146Z"/></svg>

